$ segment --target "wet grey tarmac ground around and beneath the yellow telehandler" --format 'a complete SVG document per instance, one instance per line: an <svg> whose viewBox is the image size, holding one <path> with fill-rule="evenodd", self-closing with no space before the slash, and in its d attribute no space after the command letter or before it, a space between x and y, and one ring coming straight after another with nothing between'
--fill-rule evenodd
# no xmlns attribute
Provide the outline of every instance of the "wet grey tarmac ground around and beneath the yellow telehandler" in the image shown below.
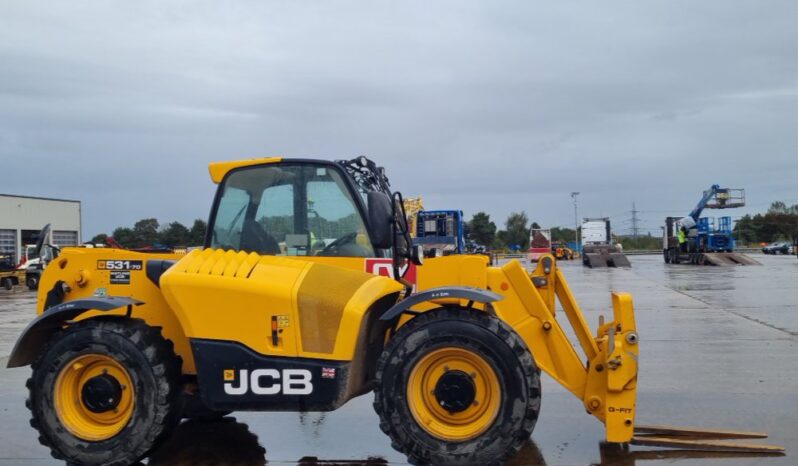
<svg viewBox="0 0 798 466"><path fill-rule="evenodd" d="M632 256L631 269L562 263L589 324L611 315L611 290L634 296L641 337L639 424L766 431L786 456L741 456L602 447L603 426L543 377L540 419L509 464L798 464L798 260L763 266L666 266ZM0 363L33 317L35 295L0 292ZM29 368L0 369L0 466L57 465L25 409ZM183 423L149 465L404 464L378 427L371 395L331 413L235 413Z"/></svg>

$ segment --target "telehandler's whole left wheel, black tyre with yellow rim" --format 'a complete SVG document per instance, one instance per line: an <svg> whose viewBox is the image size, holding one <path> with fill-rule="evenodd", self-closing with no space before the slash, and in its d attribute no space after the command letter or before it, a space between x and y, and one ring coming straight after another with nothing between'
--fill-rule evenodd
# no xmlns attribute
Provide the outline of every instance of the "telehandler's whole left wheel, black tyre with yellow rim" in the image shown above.
<svg viewBox="0 0 798 466"><path fill-rule="evenodd" d="M39 442L57 459L86 466L134 463L156 447L180 419L181 364L160 328L141 320L78 322L56 334L33 363L27 383L31 426L39 431ZM100 375L93 375L92 370ZM108 382L109 376L118 385ZM126 401L117 401L112 409L98 405L97 398L93 405L87 401L91 396L87 393L93 390L89 387L87 392L87 387L100 378L105 379L98 385L116 387L109 402L113 398ZM80 395L70 387L78 387ZM74 399L74 407L65 407L65 399ZM104 399L100 398L100 403ZM99 415L122 413L114 425L123 427L109 433L102 430L106 427L101 421L92 421L87 428L74 421L74 413L81 413L77 419L83 422L87 416L99 416L98 409ZM95 434L98 438L88 438Z"/></svg>

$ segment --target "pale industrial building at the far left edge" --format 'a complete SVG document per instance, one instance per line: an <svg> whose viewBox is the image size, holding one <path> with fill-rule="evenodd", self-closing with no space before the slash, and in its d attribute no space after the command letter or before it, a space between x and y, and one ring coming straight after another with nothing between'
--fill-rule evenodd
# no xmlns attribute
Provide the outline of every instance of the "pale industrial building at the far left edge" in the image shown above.
<svg viewBox="0 0 798 466"><path fill-rule="evenodd" d="M80 244L80 201L0 194L0 254L13 254L19 261L25 245L35 244L48 223L51 244Z"/></svg>

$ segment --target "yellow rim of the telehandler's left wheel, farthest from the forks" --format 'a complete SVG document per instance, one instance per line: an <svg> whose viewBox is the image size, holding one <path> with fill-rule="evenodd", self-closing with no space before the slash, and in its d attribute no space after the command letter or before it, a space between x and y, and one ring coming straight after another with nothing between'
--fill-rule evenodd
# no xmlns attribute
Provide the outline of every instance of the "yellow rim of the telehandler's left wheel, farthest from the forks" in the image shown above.
<svg viewBox="0 0 798 466"><path fill-rule="evenodd" d="M83 399L86 383L103 376L111 377L121 391L118 402L102 412L90 409ZM118 434L130 421L134 409L133 382L127 370L115 359L102 354L85 354L70 361L55 381L55 412L72 435L90 442L107 440Z"/></svg>

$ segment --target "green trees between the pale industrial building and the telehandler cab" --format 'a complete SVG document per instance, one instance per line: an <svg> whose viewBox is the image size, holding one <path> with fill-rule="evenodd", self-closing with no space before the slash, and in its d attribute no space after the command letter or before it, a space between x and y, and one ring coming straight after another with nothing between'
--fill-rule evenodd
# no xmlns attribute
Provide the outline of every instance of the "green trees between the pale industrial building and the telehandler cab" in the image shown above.
<svg viewBox="0 0 798 466"><path fill-rule="evenodd" d="M205 230L208 225L205 220L194 220L191 227L180 222L171 222L161 226L157 219L144 218L133 225L133 228L119 227L111 236L125 248L145 248L166 246L186 247L202 246L205 242ZM100 233L91 239L92 243L105 243L108 235Z"/></svg>

